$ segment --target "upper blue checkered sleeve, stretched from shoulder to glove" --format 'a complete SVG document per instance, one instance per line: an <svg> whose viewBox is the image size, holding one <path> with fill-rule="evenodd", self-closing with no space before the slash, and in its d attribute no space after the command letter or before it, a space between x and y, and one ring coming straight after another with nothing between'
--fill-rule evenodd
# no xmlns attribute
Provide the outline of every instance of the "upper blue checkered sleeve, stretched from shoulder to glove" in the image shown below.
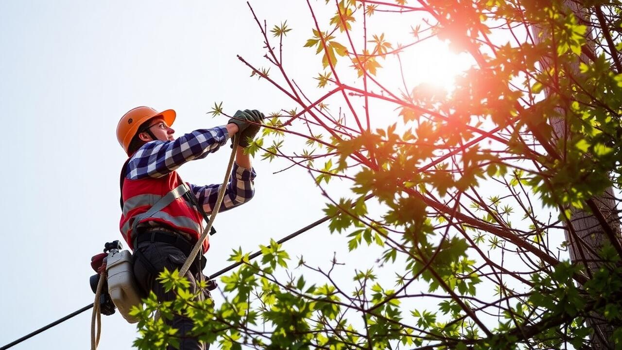
<svg viewBox="0 0 622 350"><path fill-rule="evenodd" d="M162 177L193 159L205 158L227 142L225 126L192 131L174 141L150 141L134 153L126 177L131 180Z"/></svg>

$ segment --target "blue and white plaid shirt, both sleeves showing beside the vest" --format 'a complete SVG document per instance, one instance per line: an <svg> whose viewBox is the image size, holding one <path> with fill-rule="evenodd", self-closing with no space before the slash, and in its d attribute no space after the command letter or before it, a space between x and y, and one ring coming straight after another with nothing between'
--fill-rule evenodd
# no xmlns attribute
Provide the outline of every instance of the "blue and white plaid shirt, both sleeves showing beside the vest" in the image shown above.
<svg viewBox="0 0 622 350"><path fill-rule="evenodd" d="M134 153L126 169L126 178L130 180L146 177L162 177L183 163L193 159L203 159L208 154L218 151L229 139L225 126L200 129L182 135L174 141L149 141ZM233 164L229 184L220 211L225 211L248 202L254 195L254 169L245 169ZM222 184L197 186L188 184L190 191L203 204L203 210L210 214L218 198Z"/></svg>

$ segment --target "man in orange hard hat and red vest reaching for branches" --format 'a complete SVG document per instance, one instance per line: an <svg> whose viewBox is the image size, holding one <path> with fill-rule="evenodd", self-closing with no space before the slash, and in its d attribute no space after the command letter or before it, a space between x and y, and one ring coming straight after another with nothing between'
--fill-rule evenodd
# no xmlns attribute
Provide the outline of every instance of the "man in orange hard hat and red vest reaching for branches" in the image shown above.
<svg viewBox="0 0 622 350"><path fill-rule="evenodd" d="M160 301L175 298L172 292L164 292L156 280L157 275L164 268L172 271L182 267L201 234L203 218L214 209L222 186L184 186L175 170L187 161L202 159L217 151L237 133L240 143L236 149L236 163L220 210L248 202L254 194L256 174L251 158L243 153L243 149L258 133L263 118L264 115L257 110L238 111L227 125L195 130L177 139L171 128L175 121L174 110L159 112L141 106L121 118L117 138L129 158L121 171L123 214L119 227L128 246L134 250L134 275L145 293L153 291ZM158 204L167 195L172 198L170 194L179 189L189 191L167 204L163 204L165 201ZM162 205L164 207L158 209ZM208 239L205 239L203 253L209 247ZM193 293L198 291L197 280L204 278L200 260L204 261L204 258L198 258L185 275ZM204 298L208 296L207 291L203 293ZM204 349L197 339L187 335L192 329L190 319L177 315L171 323L178 329L180 350Z"/></svg>

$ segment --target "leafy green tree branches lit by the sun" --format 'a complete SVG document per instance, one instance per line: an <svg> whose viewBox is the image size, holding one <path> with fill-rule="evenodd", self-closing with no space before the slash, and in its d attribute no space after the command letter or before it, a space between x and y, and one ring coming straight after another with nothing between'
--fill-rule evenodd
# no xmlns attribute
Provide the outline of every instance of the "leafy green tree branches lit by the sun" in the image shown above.
<svg viewBox="0 0 622 350"><path fill-rule="evenodd" d="M247 151L309 169L327 196L330 232L346 235L348 252L382 250L371 263L383 273L359 268L341 285L336 259L322 269L301 258L294 276L274 241L261 247L261 263L238 250L231 261L243 265L222 278L220 306L147 301L144 339L170 339L164 323L148 319L166 307L225 349L549 349L590 338L622 349L620 217L601 212L583 233L570 223L578 210L606 210L595 197L621 185L620 8L605 5L341 0L327 1L335 11L325 22L310 6L313 36L300 46L319 55L315 99L282 59L292 29L272 29L277 52L260 26L281 76L242 60L296 108L273 113ZM414 23L411 42L388 41L399 27L368 36L376 16ZM475 62L448 92L408 88L401 57L417 54L423 33ZM391 64L401 74L383 77ZM287 138L303 138L302 151ZM333 198L335 178L350 183L349 197ZM369 197L379 211L368 209ZM552 239L564 225L567 242ZM598 247L587 243L595 235L605 237ZM560 257L567 248L580 258ZM390 287L387 273L396 277Z"/></svg>

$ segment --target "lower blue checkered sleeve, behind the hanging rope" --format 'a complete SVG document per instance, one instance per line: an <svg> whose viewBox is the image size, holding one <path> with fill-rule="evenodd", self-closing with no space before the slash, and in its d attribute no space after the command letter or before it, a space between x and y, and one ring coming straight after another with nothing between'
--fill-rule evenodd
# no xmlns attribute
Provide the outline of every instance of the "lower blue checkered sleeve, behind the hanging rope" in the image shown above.
<svg viewBox="0 0 622 350"><path fill-rule="evenodd" d="M238 166L238 164L233 164L230 181L225 191L225 197L223 198L223 203L218 211L222 212L250 201L255 194L255 176L256 173L254 169L245 169ZM211 214L211 211L216 205L218 191L220 190L220 186L222 186L222 184L207 186L196 186L193 184L189 185L190 191L195 194L195 197L198 199L198 203L203 204L205 214Z"/></svg>

